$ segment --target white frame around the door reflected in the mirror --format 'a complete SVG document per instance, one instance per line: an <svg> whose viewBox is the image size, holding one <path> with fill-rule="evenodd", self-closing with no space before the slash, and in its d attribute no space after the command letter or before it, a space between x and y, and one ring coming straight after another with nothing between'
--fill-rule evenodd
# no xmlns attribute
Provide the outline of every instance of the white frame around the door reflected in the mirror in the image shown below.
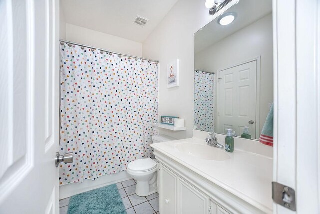
<svg viewBox="0 0 320 214"><path fill-rule="evenodd" d="M253 61L256 61L256 85L255 85L255 90L256 90L256 96L255 96L255 137L257 136L260 136L260 75L261 75L261 56L256 56L256 57L253 57L253 58L250 58L248 60L245 60L245 61L242 61L242 62L239 62L239 63L236 63L234 65L231 65L231 66L227 66L223 69L218 69L217 70L217 81L216 81L216 109L218 109L218 102L219 102L219 99L218 99L218 96L219 96L219 87L218 87L218 84L219 84L219 79L220 79L220 71L224 71L226 69L230 69L230 68L233 68L233 67L236 67L236 66L239 66L239 65L243 65L245 63L249 63L249 62L253 62ZM218 124L219 124L219 116L218 116L219 112L218 110L216 111L216 127L218 127ZM258 125L257 125L258 124ZM258 139L257 139L258 140Z"/></svg>

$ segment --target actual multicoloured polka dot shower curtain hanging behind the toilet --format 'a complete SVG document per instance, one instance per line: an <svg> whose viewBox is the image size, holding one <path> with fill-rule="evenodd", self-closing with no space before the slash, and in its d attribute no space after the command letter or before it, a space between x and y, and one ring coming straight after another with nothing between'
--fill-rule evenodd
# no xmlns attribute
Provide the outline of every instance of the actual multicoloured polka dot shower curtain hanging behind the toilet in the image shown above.
<svg viewBox="0 0 320 214"><path fill-rule="evenodd" d="M157 122L155 62L60 45L60 185L117 173L149 146Z"/></svg>

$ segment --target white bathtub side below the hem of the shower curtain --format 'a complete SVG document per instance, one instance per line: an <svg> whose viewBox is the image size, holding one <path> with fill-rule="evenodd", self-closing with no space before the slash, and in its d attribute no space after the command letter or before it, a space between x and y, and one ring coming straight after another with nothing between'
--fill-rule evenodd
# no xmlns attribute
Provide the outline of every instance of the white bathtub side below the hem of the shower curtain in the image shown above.
<svg viewBox="0 0 320 214"><path fill-rule="evenodd" d="M97 189L129 179L131 179L131 177L126 173L126 171L121 171L115 174L103 175L96 180L87 179L82 183L66 184L60 186L60 200L76 194L80 194L82 192L90 191L92 189Z"/></svg>

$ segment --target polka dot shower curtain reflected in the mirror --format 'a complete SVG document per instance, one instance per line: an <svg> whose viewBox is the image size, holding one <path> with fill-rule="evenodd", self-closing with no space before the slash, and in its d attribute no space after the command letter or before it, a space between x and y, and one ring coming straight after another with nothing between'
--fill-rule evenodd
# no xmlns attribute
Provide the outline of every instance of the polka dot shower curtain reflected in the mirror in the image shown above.
<svg viewBox="0 0 320 214"><path fill-rule="evenodd" d="M194 129L214 130L214 73L194 72Z"/></svg>

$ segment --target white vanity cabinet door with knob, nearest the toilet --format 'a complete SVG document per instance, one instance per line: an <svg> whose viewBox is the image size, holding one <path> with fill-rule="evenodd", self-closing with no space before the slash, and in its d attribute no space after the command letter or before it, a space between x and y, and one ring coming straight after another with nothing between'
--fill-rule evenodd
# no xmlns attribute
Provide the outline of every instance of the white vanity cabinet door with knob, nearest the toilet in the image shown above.
<svg viewBox="0 0 320 214"><path fill-rule="evenodd" d="M159 166L159 212L177 213L178 177L169 169Z"/></svg>

